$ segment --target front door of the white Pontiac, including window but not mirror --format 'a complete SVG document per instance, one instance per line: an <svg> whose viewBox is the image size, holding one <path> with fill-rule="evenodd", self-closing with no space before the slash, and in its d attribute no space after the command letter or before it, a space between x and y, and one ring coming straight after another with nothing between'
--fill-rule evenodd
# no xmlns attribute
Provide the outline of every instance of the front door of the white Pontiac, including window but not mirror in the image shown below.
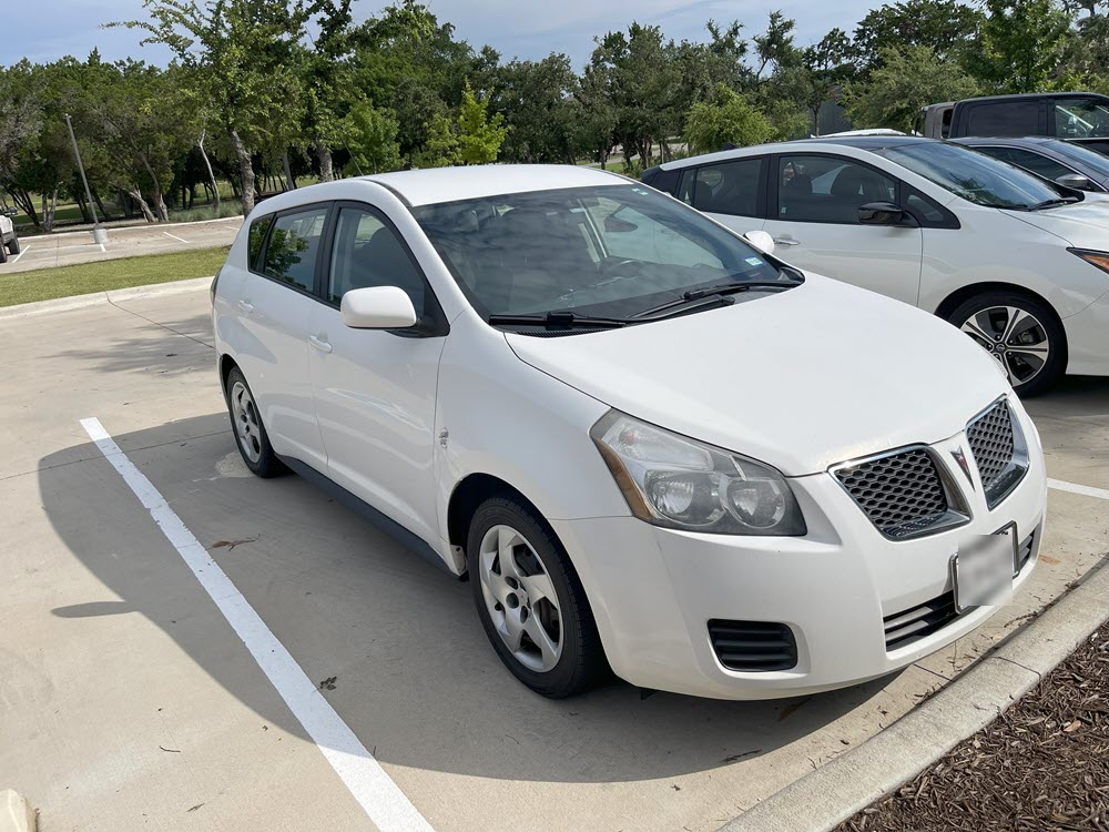
<svg viewBox="0 0 1109 832"><path fill-rule="evenodd" d="M424 273L388 217L339 203L328 234L323 303L312 321L312 382L332 480L428 542L436 515L435 392L446 323ZM418 331L352 329L343 295L399 286Z"/></svg>

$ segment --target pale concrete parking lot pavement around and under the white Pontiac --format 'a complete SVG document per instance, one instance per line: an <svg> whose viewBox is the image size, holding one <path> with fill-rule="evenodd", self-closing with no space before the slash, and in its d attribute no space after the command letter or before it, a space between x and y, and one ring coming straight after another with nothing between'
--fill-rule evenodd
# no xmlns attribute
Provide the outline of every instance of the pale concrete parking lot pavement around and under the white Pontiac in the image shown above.
<svg viewBox="0 0 1109 832"><path fill-rule="evenodd" d="M1109 549L1052 490L1014 606L891 678L779 702L542 699L470 590L238 459L205 292L13 319L0 397L0 783L49 828L373 824L80 420L96 417L411 804L448 830L713 830L879 731ZM1049 475L1109 488L1109 379L1032 403Z"/></svg>

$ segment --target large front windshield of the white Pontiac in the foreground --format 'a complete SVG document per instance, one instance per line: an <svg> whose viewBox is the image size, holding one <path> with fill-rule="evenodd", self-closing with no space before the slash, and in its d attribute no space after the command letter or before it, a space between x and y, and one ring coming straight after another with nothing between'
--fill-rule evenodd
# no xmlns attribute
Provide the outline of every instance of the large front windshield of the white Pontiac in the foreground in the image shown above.
<svg viewBox="0 0 1109 832"><path fill-rule="evenodd" d="M692 288L795 280L711 220L640 185L505 194L413 213L486 315L628 317Z"/></svg>

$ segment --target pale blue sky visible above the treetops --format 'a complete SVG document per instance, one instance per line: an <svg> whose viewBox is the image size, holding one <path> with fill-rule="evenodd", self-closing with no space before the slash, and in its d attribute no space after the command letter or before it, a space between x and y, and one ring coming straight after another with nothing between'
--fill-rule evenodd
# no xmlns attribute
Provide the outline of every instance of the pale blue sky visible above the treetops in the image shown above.
<svg viewBox="0 0 1109 832"><path fill-rule="evenodd" d="M580 69L596 34L622 29L632 20L659 24L668 38L703 40L706 20L739 20L750 38L765 28L766 16L781 9L797 21L796 41L807 45L833 27L848 32L881 0L427 0L440 22L455 24L475 48L486 43L505 59L543 58L566 52ZM102 29L111 20L143 17L142 0L4 0L0 14L0 65L22 58L47 62L72 54L85 58L93 47L108 60L141 58L164 63L164 50L139 45L140 34ZM355 0L359 18L379 10L378 0Z"/></svg>

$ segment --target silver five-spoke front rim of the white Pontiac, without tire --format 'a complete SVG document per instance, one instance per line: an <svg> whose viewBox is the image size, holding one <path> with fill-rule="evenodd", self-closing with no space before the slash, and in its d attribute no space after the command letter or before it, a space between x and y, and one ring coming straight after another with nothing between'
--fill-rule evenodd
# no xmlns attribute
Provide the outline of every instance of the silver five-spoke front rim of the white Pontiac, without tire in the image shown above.
<svg viewBox="0 0 1109 832"><path fill-rule="evenodd" d="M494 526L478 549L478 580L492 621L512 656L547 672L562 656L558 595L535 547L510 526Z"/></svg>

